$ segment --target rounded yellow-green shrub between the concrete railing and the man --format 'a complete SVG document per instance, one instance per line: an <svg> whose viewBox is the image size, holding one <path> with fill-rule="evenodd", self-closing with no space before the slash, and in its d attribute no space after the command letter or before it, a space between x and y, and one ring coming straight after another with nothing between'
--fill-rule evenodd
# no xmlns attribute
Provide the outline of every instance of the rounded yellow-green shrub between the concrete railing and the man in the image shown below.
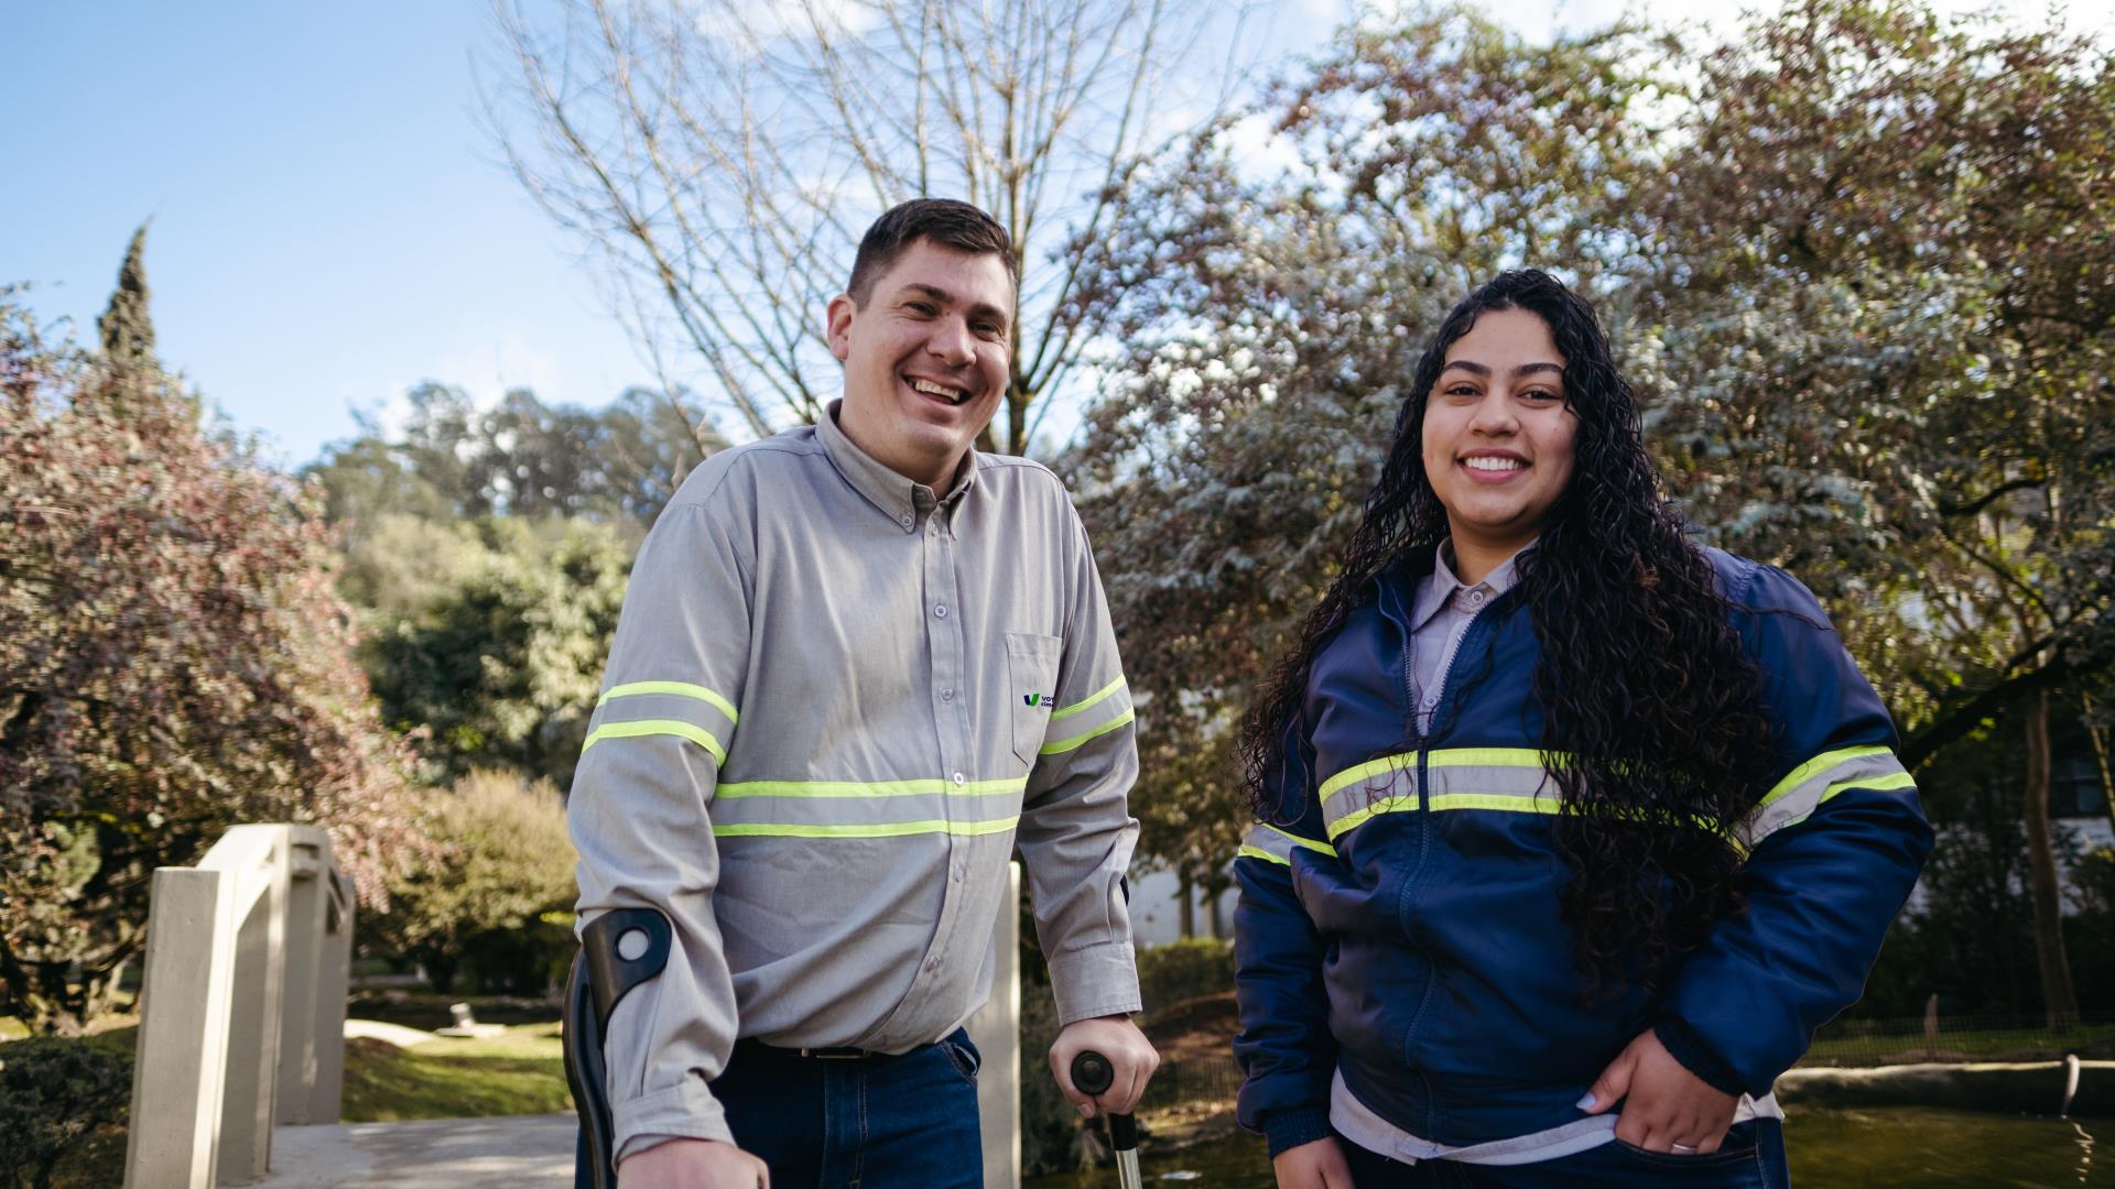
<svg viewBox="0 0 2115 1189"><path fill-rule="evenodd" d="M472 772L436 789L421 827L440 855L389 884L374 935L417 958L434 990L459 969L493 992L544 994L573 956L573 842L550 781Z"/></svg>

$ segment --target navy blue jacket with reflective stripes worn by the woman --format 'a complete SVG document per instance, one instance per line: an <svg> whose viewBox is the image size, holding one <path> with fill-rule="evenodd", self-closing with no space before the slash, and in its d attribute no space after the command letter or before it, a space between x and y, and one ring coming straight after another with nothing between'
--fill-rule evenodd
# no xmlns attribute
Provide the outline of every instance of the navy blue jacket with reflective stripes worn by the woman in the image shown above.
<svg viewBox="0 0 2115 1189"><path fill-rule="evenodd" d="M1736 840L1747 912L1658 994L1588 1005L1561 920L1559 793L1535 751L1540 650L1521 590L1470 624L1415 738L1404 639L1421 573L1392 569L1326 639L1286 728L1277 791L1299 817L1256 825L1235 859L1244 1126L1311 1123L1341 1066L1362 1104L1415 1136L1525 1136L1580 1119L1578 1098L1645 1028L1705 1081L1760 1098L1859 996L1931 827L1887 709L1815 597L1781 569L1707 554L1781 726L1770 791Z"/></svg>

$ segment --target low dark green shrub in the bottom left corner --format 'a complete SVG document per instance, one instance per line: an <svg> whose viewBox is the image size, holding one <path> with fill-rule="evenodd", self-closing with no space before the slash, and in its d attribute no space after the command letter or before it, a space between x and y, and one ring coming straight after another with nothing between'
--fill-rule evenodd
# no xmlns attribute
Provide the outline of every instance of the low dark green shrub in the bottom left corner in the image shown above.
<svg viewBox="0 0 2115 1189"><path fill-rule="evenodd" d="M0 1045L0 1187L51 1189L59 1161L131 1106L131 1054L93 1039Z"/></svg>

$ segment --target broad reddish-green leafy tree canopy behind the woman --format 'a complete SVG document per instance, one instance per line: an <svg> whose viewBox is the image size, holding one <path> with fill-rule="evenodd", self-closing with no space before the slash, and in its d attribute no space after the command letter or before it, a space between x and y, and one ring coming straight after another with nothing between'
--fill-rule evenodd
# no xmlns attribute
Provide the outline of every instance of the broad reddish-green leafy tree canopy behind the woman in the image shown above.
<svg viewBox="0 0 2115 1189"><path fill-rule="evenodd" d="M1332 575L1438 317L1590 296L1700 539L1806 578L1906 760L2104 673L2115 110L2056 30L1808 0L1703 53L1364 23L1142 178L1066 459L1142 694L1142 848L1210 880L1231 732ZM1265 161L1267 167L1258 167Z"/></svg>

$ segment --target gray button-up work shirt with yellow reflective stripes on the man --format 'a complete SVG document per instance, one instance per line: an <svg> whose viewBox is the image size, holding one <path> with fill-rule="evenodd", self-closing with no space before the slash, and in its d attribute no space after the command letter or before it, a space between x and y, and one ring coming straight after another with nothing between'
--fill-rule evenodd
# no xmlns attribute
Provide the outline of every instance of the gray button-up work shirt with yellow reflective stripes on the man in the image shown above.
<svg viewBox="0 0 2115 1189"><path fill-rule="evenodd" d="M582 927L675 925L609 1020L622 1155L740 1140L706 1090L736 1037L969 1020L1015 844L1060 1022L1138 1009L1136 728L1064 487L971 453L937 497L835 410L698 468L632 567L569 800Z"/></svg>

